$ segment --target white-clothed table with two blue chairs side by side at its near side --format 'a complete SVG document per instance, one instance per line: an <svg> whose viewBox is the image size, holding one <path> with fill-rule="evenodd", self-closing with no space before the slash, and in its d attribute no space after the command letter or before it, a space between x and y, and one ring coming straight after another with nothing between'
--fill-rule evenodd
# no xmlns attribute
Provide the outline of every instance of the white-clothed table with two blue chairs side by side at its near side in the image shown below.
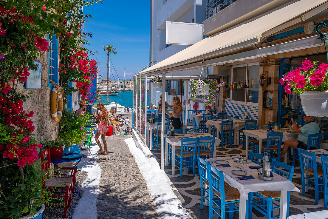
<svg viewBox="0 0 328 219"><path fill-rule="evenodd" d="M165 135L166 137L167 135ZM197 136L189 136L188 134L185 134L184 136L175 136L174 138L165 138L165 166L169 165L168 162L168 157L169 157L169 144L172 145L172 175L175 174L175 165L174 165L174 154L175 154L175 146L180 146L181 145L181 139L179 137L188 137L188 138L194 138L196 139L197 137L204 137L204 136L210 136L213 137L213 135L209 133L204 133L203 135L197 135ZM221 143L221 140L218 138L215 138L214 142L214 153L213 156L215 157L216 155L216 147L219 146Z"/></svg>

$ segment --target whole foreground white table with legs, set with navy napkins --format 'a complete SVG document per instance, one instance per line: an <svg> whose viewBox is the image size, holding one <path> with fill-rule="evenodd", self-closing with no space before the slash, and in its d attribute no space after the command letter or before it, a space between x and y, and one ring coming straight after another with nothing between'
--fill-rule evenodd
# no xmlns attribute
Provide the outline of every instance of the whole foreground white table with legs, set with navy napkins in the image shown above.
<svg viewBox="0 0 328 219"><path fill-rule="evenodd" d="M235 156L234 156L235 157ZM274 173L274 178L272 181L264 181L258 179L257 176L257 169L250 169L248 166L257 166L255 163L249 163L246 164L245 170L249 175L252 175L254 177L253 180L239 180L234 174L231 173L232 170L236 169L233 167L233 157L217 157L217 158L211 158L207 161L215 162L215 160L226 160L229 162L231 167L216 167L216 169L223 172L223 178L224 181L227 182L230 186L236 188L239 190L239 219L245 219L246 218L246 200L248 199L248 193L249 192L258 192L258 191L280 191L280 219L286 219L287 218L287 191L297 191L299 192L299 189L294 186L294 184ZM211 165L215 165L211 164ZM283 190L281 190L283 189Z"/></svg>

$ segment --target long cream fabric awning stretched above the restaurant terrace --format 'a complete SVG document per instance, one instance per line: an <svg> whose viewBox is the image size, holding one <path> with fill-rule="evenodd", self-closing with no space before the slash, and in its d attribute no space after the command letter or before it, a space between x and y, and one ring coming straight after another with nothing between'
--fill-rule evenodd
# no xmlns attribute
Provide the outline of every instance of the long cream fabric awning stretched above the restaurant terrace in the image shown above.
<svg viewBox="0 0 328 219"><path fill-rule="evenodd" d="M243 23L233 29L207 37L194 45L164 59L163 61L143 70L139 74L154 75L158 71L175 72L188 70L179 66L203 62L260 42L262 37L271 35L286 27L297 24L327 9L328 0L297 0L270 11L261 17ZM323 4L325 3L325 4ZM242 60L242 58L240 59ZM214 64L213 64L214 65ZM189 69L195 69L191 67Z"/></svg>

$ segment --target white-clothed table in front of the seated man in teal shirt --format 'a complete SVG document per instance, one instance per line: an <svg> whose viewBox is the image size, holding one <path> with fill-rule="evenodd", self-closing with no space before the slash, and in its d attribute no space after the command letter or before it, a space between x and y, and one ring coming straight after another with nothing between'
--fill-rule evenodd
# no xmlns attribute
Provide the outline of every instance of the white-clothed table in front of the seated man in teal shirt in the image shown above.
<svg viewBox="0 0 328 219"><path fill-rule="evenodd" d="M262 151L262 140L267 138L268 132L266 130L258 129L258 130L244 130L243 131L246 136L246 158L248 158L248 139L249 137L253 137L256 140L259 140L258 144L258 152ZM298 133L289 133L282 131L282 141L296 141Z"/></svg>

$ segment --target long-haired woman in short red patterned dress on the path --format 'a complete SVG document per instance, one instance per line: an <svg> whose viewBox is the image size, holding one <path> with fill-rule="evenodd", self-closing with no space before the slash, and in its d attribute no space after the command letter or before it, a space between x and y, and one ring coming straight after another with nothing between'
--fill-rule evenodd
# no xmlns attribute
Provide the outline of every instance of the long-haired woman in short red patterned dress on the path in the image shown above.
<svg viewBox="0 0 328 219"><path fill-rule="evenodd" d="M108 132L108 111L105 108L103 103L98 103L97 108L99 110L96 121L100 120L98 130L96 134L94 135L94 139L96 140L100 150L97 151L97 153L101 152L101 155L107 154L107 143L106 143L106 133ZM104 144L104 149L103 151L100 141L99 141L99 136L101 134L101 140L103 141Z"/></svg>

